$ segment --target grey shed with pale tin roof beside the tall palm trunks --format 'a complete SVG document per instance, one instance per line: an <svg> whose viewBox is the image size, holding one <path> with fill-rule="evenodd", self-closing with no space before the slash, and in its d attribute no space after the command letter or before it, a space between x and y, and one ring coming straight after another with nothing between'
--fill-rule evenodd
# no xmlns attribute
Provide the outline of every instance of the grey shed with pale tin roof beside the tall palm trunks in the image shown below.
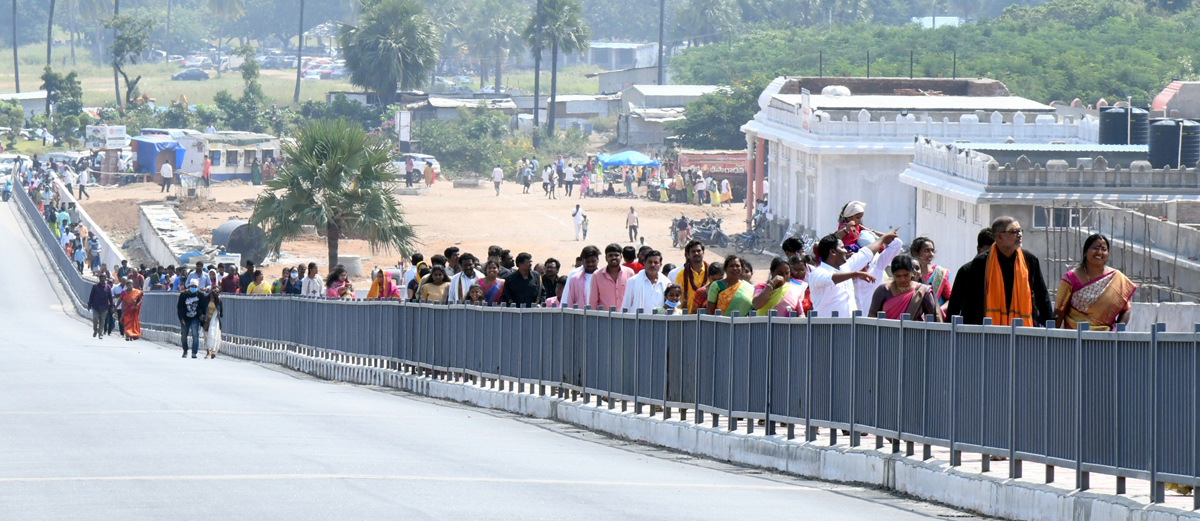
<svg viewBox="0 0 1200 521"><path fill-rule="evenodd" d="M684 119L684 108L716 85L634 85L620 94L617 140L623 145L661 149L667 139L662 125Z"/></svg>

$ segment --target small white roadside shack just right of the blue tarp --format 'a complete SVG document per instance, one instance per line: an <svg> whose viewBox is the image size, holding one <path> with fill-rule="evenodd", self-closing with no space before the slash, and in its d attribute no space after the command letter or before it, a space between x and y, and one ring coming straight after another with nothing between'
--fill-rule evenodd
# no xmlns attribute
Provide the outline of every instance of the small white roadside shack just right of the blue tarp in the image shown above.
<svg viewBox="0 0 1200 521"><path fill-rule="evenodd" d="M254 160L262 163L280 156L280 138L253 132L184 136L179 138L179 144L185 149L179 169L200 175L204 158L209 157L212 160L210 172L214 181L248 180Z"/></svg>

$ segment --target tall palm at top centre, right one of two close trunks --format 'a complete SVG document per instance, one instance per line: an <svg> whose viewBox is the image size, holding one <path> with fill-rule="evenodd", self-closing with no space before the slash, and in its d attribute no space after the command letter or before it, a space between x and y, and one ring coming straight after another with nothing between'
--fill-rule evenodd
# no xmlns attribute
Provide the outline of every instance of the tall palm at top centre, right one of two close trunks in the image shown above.
<svg viewBox="0 0 1200 521"><path fill-rule="evenodd" d="M538 17L529 20L524 40L538 52L550 44L550 118L546 136L554 134L554 101L558 97L558 53L575 54L587 50L592 31L583 23L583 6L578 0L542 0L541 41L538 41Z"/></svg>

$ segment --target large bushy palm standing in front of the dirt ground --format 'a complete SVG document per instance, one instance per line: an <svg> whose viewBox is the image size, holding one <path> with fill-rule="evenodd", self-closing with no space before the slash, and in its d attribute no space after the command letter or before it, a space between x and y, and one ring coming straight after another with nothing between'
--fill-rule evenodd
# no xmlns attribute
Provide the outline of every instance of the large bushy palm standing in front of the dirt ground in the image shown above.
<svg viewBox="0 0 1200 521"><path fill-rule="evenodd" d="M305 224L325 230L329 265L337 265L338 241L364 236L372 252L408 256L413 227L392 188L396 182L391 148L346 120L316 120L299 128L283 145L288 162L254 202L250 222L262 226L276 253Z"/></svg>

